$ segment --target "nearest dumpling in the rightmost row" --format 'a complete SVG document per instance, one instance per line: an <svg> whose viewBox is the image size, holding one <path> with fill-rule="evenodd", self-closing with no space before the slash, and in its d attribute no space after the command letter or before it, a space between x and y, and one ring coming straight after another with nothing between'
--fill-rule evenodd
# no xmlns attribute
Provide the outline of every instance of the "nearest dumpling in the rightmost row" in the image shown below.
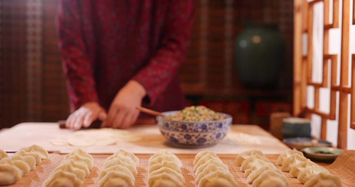
<svg viewBox="0 0 355 187"><path fill-rule="evenodd" d="M321 172L308 180L304 187L342 187L342 181L336 175Z"/></svg>

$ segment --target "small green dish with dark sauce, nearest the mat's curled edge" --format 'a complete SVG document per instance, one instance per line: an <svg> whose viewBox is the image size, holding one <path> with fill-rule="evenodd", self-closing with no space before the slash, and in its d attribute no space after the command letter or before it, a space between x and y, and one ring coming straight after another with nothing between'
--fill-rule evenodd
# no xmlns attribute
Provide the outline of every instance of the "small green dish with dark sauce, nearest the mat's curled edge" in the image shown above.
<svg viewBox="0 0 355 187"><path fill-rule="evenodd" d="M310 159L335 160L344 150L333 147L307 147L304 148L303 152Z"/></svg>

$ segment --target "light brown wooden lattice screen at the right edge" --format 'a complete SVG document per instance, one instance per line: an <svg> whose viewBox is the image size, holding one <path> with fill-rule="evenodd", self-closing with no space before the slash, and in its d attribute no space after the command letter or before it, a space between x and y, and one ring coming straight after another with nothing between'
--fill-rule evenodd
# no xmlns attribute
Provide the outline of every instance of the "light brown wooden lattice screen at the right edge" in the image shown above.
<svg viewBox="0 0 355 187"><path fill-rule="evenodd" d="M312 81L312 55L313 55L313 5L317 2L324 3L324 35L323 35L323 77L321 83ZM321 138L326 139L327 120L336 119L337 92L339 92L339 114L338 114L338 147L346 149L348 123L355 129L355 54L352 57L349 67L349 32L350 32L350 2L354 0L343 0L342 15L339 15L339 0L333 0L333 22L329 23L329 0L306 0L294 1L294 115L317 114L321 117ZM341 52L340 62L337 62L337 55L329 55L329 29L339 28L339 16L342 16L341 27ZM355 24L353 15L352 24ZM302 34L307 34L307 55L302 55ZM354 41L353 41L354 42ZM331 64L329 64L331 63ZM337 63L340 63L340 84L337 84ZM328 72L330 68L330 83L328 83ZM351 75L348 69L351 68ZM349 76L351 84L349 85ZM314 87L314 107L306 105L307 86ZM330 88L329 113L321 112L320 88ZM348 122L348 94L351 95L350 122Z"/></svg>

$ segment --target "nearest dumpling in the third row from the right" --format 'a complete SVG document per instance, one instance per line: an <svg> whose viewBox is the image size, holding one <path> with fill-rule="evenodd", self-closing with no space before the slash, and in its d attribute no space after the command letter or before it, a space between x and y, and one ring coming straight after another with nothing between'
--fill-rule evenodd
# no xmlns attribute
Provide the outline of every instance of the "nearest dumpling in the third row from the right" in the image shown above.
<svg viewBox="0 0 355 187"><path fill-rule="evenodd" d="M230 172L216 170L203 176L198 183L198 187L235 187L238 186Z"/></svg>

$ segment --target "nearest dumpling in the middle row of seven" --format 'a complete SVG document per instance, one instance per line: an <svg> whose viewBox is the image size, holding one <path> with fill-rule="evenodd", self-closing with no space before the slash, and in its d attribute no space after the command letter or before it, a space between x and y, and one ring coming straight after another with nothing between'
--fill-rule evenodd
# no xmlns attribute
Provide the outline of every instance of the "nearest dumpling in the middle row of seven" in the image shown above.
<svg viewBox="0 0 355 187"><path fill-rule="evenodd" d="M148 186L149 187L159 187L158 185L161 185L164 183L163 181L166 181L165 183L169 183L169 187L184 187L184 183L179 181L179 178L177 176L171 175L169 173L163 172L157 175L149 175L148 176ZM156 184L157 183L157 184Z"/></svg>

